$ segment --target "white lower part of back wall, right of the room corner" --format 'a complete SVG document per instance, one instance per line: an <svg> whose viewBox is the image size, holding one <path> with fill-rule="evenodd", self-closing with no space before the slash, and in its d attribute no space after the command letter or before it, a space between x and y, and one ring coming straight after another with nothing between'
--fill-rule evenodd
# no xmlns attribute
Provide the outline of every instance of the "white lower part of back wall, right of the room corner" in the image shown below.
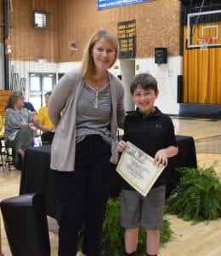
<svg viewBox="0 0 221 256"><path fill-rule="evenodd" d="M122 74L122 83L125 90L125 107L127 110L133 108L131 95L129 92L129 84L135 73L149 72L158 82L160 94L156 100L156 106L163 113L178 114L177 103L177 78L182 74L182 56L167 57L167 63L157 65L154 58L117 60L111 68L111 73L115 75ZM79 62L63 62L58 64L58 73L66 73L72 68L80 67ZM137 69L136 67L139 67Z"/></svg>

